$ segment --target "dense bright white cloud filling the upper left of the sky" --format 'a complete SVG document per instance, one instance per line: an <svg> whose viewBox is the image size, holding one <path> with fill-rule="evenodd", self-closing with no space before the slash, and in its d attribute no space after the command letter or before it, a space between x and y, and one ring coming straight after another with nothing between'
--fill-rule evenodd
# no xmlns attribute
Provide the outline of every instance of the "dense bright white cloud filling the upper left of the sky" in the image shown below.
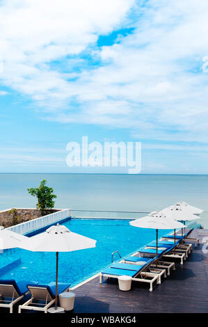
<svg viewBox="0 0 208 327"><path fill-rule="evenodd" d="M134 0L24 0L0 4L2 83L24 95L59 106L76 95L51 61L81 54L99 34L120 26ZM72 62L74 58L72 58ZM70 62L70 60L69 60ZM58 104L54 103L58 99ZM42 100L42 101L41 101ZM63 103L62 103L63 104Z"/></svg>

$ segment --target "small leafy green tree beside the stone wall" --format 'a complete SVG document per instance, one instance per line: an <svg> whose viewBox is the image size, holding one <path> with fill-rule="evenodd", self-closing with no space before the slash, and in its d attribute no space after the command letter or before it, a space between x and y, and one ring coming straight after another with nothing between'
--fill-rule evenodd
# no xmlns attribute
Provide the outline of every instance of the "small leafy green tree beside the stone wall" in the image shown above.
<svg viewBox="0 0 208 327"><path fill-rule="evenodd" d="M38 188L27 189L31 196L36 196L38 199L38 203L36 207L40 209L42 216L45 214L47 209L54 208L55 201L54 199L57 198L55 194L53 194L54 189L52 187L46 186L47 180L42 180L40 182L40 186Z"/></svg>

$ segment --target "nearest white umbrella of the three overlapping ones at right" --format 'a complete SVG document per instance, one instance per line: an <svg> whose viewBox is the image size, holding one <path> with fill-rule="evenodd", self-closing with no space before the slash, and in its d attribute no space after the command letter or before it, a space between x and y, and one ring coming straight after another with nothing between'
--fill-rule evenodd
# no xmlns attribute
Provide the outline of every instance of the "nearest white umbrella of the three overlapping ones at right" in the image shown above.
<svg viewBox="0 0 208 327"><path fill-rule="evenodd" d="M182 223L166 217L161 212L151 212L149 216L130 221L129 224L134 227L152 228L156 230L156 255L158 253L158 230L176 230L177 228L184 227Z"/></svg>

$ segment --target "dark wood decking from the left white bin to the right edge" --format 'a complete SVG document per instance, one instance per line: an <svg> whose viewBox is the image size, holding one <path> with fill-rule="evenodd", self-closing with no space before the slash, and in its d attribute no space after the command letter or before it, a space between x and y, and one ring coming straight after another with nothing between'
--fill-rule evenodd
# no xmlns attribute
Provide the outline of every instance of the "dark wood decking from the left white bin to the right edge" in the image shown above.
<svg viewBox="0 0 208 327"><path fill-rule="evenodd" d="M208 230L195 230L191 236L200 239L200 247L152 293L148 284L134 282L131 291L122 292L116 280L102 285L95 278L74 289L74 313L208 312L208 253L202 252L201 243Z"/></svg>

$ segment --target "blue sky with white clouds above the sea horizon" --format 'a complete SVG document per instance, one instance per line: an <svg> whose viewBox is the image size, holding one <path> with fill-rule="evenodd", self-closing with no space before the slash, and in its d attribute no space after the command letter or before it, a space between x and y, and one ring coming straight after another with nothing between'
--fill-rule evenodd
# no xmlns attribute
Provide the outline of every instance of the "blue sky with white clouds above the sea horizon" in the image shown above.
<svg viewBox="0 0 208 327"><path fill-rule="evenodd" d="M102 172L65 163L88 136L142 142L141 173L207 174L207 1L49 3L0 1L0 172Z"/></svg>

